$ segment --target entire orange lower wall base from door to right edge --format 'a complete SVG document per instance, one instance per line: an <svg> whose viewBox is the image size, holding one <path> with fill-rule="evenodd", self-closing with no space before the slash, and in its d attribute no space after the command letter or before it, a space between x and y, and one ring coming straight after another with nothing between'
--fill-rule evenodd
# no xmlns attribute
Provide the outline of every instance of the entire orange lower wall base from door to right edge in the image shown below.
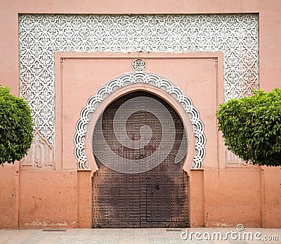
<svg viewBox="0 0 281 244"><path fill-rule="evenodd" d="M261 168L191 171L190 225L281 228L281 169Z"/></svg>

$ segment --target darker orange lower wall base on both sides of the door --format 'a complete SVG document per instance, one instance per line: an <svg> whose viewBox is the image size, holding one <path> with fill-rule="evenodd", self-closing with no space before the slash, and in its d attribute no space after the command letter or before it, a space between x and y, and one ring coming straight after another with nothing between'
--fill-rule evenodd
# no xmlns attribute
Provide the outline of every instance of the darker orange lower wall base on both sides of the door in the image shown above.
<svg viewBox="0 0 281 244"><path fill-rule="evenodd" d="M91 172L0 168L0 228L91 228ZM280 167L190 172L190 225L281 228Z"/></svg>

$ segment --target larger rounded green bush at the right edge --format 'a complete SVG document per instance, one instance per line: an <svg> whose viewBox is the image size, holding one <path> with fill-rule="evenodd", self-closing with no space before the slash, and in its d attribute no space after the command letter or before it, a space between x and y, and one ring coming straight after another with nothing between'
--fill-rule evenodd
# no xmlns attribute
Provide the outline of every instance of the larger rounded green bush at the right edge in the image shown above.
<svg viewBox="0 0 281 244"><path fill-rule="evenodd" d="M216 116L228 150L253 164L280 165L281 89L230 100Z"/></svg>

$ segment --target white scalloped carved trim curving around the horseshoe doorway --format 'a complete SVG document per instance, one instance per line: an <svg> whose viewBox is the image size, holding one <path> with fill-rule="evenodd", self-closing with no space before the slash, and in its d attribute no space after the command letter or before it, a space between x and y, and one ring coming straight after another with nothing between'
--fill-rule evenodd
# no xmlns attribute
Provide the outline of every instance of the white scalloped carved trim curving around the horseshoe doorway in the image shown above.
<svg viewBox="0 0 281 244"><path fill-rule="evenodd" d="M170 94L170 96L173 96L178 103L181 103L184 110L188 114L188 117L190 118L195 134L195 155L191 169L202 167L206 152L204 124L200 120L200 113L193 106L191 99L188 96L185 96L183 91L168 79L164 79L153 73L132 72L125 73L124 75L120 75L115 79L111 79L105 86L100 87L100 89L96 91L96 94L89 98L86 107L81 110L80 120L78 120L76 124L76 133L74 135L74 155L75 158L77 158L78 169L89 169L85 152L85 136L86 128L93 112L108 95L112 94L117 89L136 83L145 83L156 86L159 89L166 91L166 93Z"/></svg>

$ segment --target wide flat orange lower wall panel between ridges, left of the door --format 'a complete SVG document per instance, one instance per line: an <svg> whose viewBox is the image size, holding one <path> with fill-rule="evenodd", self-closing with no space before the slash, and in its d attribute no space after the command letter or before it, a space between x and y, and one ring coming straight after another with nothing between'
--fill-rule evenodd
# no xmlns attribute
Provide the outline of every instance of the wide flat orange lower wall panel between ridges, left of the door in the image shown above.
<svg viewBox="0 0 281 244"><path fill-rule="evenodd" d="M77 187L77 171L20 171L20 228L77 228Z"/></svg>

